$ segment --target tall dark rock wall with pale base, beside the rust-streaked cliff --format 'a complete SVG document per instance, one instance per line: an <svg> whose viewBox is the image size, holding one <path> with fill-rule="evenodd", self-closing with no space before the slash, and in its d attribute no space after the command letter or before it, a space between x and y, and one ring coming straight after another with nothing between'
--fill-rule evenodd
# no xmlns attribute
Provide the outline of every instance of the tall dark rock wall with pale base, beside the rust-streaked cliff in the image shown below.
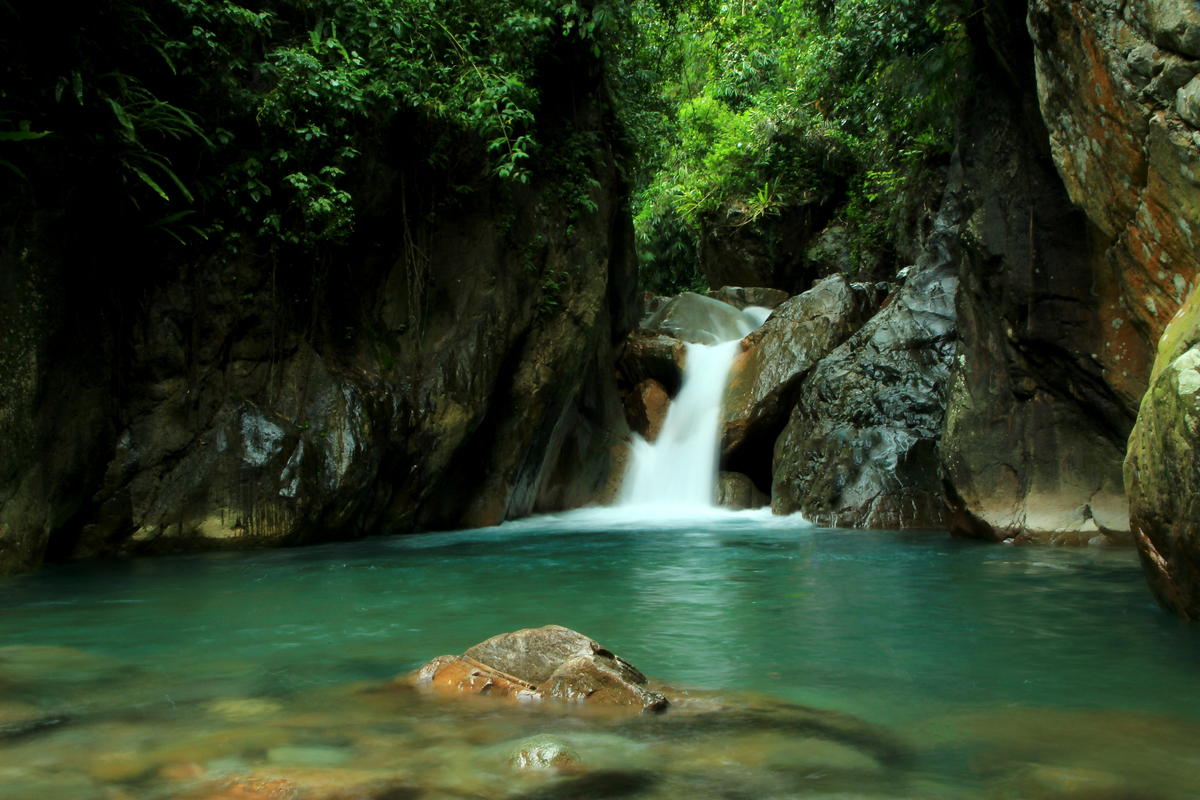
<svg viewBox="0 0 1200 800"><path fill-rule="evenodd" d="M1009 62L1032 65L1027 38L1009 48ZM1120 464L1147 345L1122 321L1104 236L1045 157L1033 76L983 79L960 148L959 343L941 441L952 530L1128 542Z"/></svg>

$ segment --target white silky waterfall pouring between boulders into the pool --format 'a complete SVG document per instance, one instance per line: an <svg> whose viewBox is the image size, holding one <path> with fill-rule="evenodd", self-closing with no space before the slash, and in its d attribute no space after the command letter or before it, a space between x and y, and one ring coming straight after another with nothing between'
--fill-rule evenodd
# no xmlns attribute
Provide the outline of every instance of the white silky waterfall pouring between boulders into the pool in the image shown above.
<svg viewBox="0 0 1200 800"><path fill-rule="evenodd" d="M690 327L688 338L712 343L688 344L683 384L667 409L654 444L634 437L620 505L694 509L714 505L721 399L730 367L737 357L742 338L766 321L770 311L751 307L738 312L732 306L707 297L692 302L700 306L701 312L697 314L695 309L689 309L692 311L689 323L694 327ZM697 320L697 315L702 319Z"/></svg>

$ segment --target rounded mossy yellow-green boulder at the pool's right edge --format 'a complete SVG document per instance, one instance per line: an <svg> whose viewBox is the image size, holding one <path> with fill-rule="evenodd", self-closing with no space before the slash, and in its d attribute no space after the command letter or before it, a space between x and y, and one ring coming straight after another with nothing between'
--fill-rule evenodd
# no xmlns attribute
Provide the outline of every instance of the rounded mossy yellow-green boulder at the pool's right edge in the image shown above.
<svg viewBox="0 0 1200 800"><path fill-rule="evenodd" d="M1171 321L1124 463L1133 531L1163 606L1200 620L1200 294Z"/></svg>

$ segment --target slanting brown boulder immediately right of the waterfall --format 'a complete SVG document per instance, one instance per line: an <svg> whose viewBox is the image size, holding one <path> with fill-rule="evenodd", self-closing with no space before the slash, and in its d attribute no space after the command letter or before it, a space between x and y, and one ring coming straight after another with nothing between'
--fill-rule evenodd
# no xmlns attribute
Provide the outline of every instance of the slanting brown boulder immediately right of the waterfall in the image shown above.
<svg viewBox="0 0 1200 800"><path fill-rule="evenodd" d="M770 449L796 404L800 379L850 338L878 308L874 287L852 287L845 276L824 278L775 308L742 341L721 403L721 456L739 461Z"/></svg>

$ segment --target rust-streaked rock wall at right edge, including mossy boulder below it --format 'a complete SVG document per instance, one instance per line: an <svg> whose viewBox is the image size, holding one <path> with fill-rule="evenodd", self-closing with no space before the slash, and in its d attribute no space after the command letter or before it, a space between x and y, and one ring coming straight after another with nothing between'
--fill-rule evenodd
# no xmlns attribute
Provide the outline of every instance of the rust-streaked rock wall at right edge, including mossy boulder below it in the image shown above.
<svg viewBox="0 0 1200 800"><path fill-rule="evenodd" d="M1127 403L1141 403L1124 467L1132 529L1159 600L1200 616L1189 377L1200 7L1037 0L1028 19L1055 163L1116 282L1102 317L1105 379Z"/></svg>

